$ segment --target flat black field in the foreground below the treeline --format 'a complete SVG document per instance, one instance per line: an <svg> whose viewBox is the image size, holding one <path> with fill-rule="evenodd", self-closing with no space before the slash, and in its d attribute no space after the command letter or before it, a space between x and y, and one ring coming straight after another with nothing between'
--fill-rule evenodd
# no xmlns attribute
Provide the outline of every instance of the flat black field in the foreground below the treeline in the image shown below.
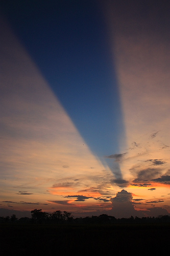
<svg viewBox="0 0 170 256"><path fill-rule="evenodd" d="M168 255L170 224L1 224L1 255Z"/></svg>

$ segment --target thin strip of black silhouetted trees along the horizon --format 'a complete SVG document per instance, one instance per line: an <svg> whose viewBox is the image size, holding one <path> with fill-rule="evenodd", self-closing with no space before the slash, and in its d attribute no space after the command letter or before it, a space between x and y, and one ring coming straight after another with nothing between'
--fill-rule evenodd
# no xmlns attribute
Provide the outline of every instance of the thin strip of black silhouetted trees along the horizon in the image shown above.
<svg viewBox="0 0 170 256"><path fill-rule="evenodd" d="M29 224L119 224L119 223L170 223L170 216L164 215L159 217L133 217L116 219L113 216L102 214L100 216L75 218L71 212L56 210L48 214L41 209L31 211L31 218L23 217L18 219L16 215L11 217L0 217L0 223L29 223Z"/></svg>

